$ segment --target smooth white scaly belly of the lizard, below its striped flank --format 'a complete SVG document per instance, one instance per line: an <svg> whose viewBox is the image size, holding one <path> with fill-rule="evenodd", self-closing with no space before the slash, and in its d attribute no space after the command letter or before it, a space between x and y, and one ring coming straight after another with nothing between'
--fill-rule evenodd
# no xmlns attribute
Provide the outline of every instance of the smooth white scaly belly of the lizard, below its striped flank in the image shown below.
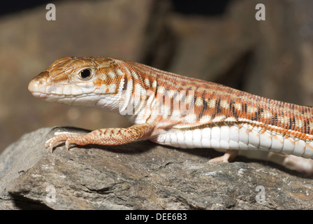
<svg viewBox="0 0 313 224"><path fill-rule="evenodd" d="M304 158L313 158L313 142L296 137L282 136L271 131L261 132L261 127L252 125L214 126L195 130L171 130L159 134L151 141L178 148L214 148L272 151Z"/></svg>

